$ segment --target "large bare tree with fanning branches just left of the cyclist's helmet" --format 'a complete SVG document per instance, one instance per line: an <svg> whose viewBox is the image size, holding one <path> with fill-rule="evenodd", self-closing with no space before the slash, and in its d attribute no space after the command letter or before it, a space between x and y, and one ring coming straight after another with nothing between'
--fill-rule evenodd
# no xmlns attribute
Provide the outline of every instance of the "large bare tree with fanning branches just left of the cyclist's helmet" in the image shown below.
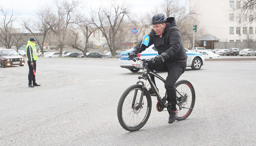
<svg viewBox="0 0 256 146"><path fill-rule="evenodd" d="M117 0L112 0L110 5L103 5L97 13L91 10L91 23L93 23L106 38L110 52L115 58L117 50L117 34L122 33L121 25L125 16L129 13L129 5L125 2L118 3Z"/></svg>

